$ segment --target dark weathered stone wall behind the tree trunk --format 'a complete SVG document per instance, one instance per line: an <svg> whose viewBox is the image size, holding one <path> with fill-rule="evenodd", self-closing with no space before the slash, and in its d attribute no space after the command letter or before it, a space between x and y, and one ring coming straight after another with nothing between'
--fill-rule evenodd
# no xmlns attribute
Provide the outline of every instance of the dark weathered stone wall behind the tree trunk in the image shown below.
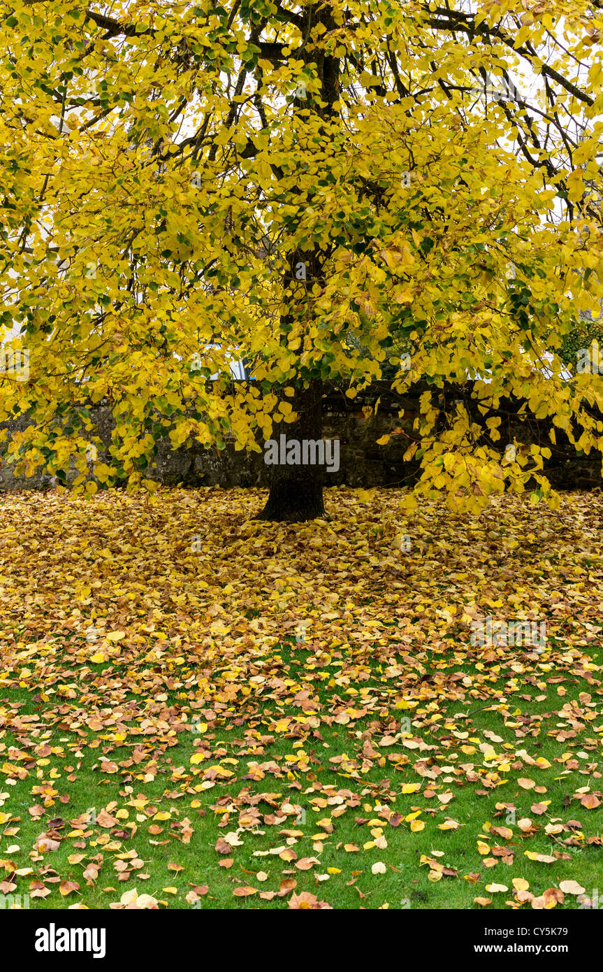
<svg viewBox="0 0 603 972"><path fill-rule="evenodd" d="M553 446L549 438L552 428L549 420L536 421L528 414L524 421L518 416L519 402L506 399L500 408L481 416L477 402L471 399L471 382L460 386L447 386L444 390L418 382L404 396L392 395L387 382L376 382L366 392L358 393L355 399L348 399L343 389L325 394L322 401L322 429L324 438L337 438L340 441L340 469L338 472L324 473L327 485L347 484L352 487L370 486L408 486L416 479L419 462L405 462L404 453L411 442L418 438L413 429L419 417L419 397L430 388L434 399L443 409L450 411L454 400L462 399L472 418L481 426L487 417L500 415L501 438L495 443L497 449L504 450L507 442L536 442L547 445L552 450L551 459L545 463L545 471L556 489L592 489L603 485L601 478L601 457L599 453L577 456L567 438L555 430L557 444ZM374 411L379 399L377 414L370 414L368 406ZM365 413L363 409L366 409ZM404 416L398 417L400 408ZM92 410L100 438L109 444L113 419L110 409L99 405ZM444 423L444 418L441 419ZM24 420L5 423L8 428L23 428ZM294 426L275 426L273 435L286 432L293 437ZM378 445L377 439L391 434L387 444ZM261 444L261 443L260 443ZM102 458L99 452L99 459ZM165 485L183 483L185 486L265 486L268 468L264 464L263 452L235 452L232 444L218 451L205 449L200 445L191 448L170 448L169 439L158 443L155 468L147 475ZM75 478L74 471L68 481ZM48 489L51 485L50 474L39 471L31 478L16 477L6 457L2 457L0 468L0 490L9 489Z"/></svg>

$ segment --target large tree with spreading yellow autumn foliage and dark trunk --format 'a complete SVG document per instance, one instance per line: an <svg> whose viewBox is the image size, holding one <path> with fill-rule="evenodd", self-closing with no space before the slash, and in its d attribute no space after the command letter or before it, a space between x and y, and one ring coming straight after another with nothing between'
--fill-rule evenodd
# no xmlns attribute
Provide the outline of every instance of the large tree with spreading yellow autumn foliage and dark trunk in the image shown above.
<svg viewBox="0 0 603 972"><path fill-rule="evenodd" d="M148 483L166 434L315 439L322 383L353 398L385 365L398 390L488 371L485 414L512 394L602 448L596 376L539 364L553 350L556 372L603 296L598 4L3 10L0 310L30 370L2 377L0 419L33 420L17 471L64 480L71 459L93 493ZM116 426L93 480L101 399ZM440 430L422 406L419 493L475 506L534 475L557 502L546 449L501 459L462 407ZM263 515L321 514L321 471L275 468Z"/></svg>

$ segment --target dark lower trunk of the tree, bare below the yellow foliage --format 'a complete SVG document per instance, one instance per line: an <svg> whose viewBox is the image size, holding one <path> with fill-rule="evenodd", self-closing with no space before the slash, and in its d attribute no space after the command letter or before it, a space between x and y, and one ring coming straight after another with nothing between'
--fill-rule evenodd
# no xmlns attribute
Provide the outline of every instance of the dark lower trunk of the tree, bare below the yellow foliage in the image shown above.
<svg viewBox="0 0 603 972"><path fill-rule="evenodd" d="M298 419L289 425L284 422L275 425L273 436L279 440L286 434L287 440L312 439L317 441L322 432L322 386L318 381L310 382L307 389L296 388L293 399L285 399L297 412ZM275 465L269 466L270 494L259 520L300 523L324 516L322 483L324 466L318 465Z"/></svg>

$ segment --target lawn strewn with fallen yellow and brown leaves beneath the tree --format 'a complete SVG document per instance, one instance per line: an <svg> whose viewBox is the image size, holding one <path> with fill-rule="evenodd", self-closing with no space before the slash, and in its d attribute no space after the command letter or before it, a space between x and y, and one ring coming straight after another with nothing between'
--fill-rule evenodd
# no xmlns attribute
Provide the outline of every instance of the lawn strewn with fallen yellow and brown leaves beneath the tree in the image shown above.
<svg viewBox="0 0 603 972"><path fill-rule="evenodd" d="M0 893L596 907L600 494L400 496L273 524L252 490L5 494ZM544 651L472 643L487 616Z"/></svg>

